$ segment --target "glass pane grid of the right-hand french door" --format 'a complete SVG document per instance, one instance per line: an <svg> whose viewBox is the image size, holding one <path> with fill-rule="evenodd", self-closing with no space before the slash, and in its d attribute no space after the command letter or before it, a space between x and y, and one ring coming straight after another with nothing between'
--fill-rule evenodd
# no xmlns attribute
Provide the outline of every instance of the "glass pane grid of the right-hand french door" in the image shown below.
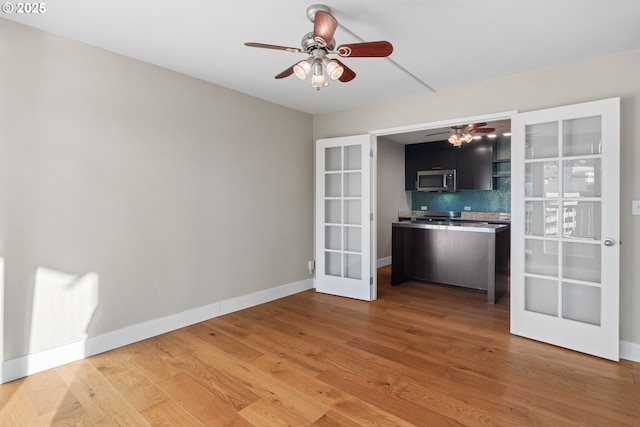
<svg viewBox="0 0 640 427"><path fill-rule="evenodd" d="M600 168L596 167L602 148L600 122L601 118L594 116L525 127L529 144L526 183L530 186L526 193L531 195L525 195L525 274L547 276L540 285L540 295L538 282L527 285L527 295L538 302L525 309L575 321L588 319L596 325L600 324L600 246L571 240L600 239L600 199L593 197L600 195ZM582 197L591 199L584 202ZM589 280L592 286L565 283L564 279ZM549 292L549 284L554 282L553 292ZM542 302L544 298L548 300ZM536 311L538 305L544 308Z"/></svg>

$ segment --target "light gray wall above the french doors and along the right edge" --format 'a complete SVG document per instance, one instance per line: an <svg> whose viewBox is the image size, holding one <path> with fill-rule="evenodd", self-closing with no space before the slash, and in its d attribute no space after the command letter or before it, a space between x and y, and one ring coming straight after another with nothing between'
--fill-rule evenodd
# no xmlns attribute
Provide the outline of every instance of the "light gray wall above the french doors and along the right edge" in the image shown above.
<svg viewBox="0 0 640 427"><path fill-rule="evenodd" d="M532 111L621 97L620 321L622 340L640 344L640 51L317 115L315 137L367 133L512 110Z"/></svg>

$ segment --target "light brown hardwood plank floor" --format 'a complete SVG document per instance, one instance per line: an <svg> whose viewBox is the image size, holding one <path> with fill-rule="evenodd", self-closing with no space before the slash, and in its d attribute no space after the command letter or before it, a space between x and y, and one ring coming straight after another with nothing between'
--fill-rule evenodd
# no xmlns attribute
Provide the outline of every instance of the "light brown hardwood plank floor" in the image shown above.
<svg viewBox="0 0 640 427"><path fill-rule="evenodd" d="M509 301L378 271L0 386L1 426L638 426L640 364L509 335Z"/></svg>

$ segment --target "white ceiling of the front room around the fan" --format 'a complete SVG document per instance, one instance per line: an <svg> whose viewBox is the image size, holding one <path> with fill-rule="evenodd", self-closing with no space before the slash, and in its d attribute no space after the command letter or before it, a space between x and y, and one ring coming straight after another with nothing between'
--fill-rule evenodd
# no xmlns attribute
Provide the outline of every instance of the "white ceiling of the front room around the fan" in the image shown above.
<svg viewBox="0 0 640 427"><path fill-rule="evenodd" d="M417 80L387 59L347 58L355 80L316 91L274 79L304 54L243 45L299 47L312 3L56 0L2 16L310 114L640 49L638 0L328 0L353 34L390 41L390 59ZM359 41L343 28L335 39Z"/></svg>

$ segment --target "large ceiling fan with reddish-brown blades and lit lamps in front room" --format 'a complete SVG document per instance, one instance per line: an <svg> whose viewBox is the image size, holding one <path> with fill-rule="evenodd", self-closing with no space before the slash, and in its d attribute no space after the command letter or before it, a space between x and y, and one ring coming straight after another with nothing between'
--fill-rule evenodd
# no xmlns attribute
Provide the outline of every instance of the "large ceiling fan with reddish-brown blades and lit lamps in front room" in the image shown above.
<svg viewBox="0 0 640 427"><path fill-rule="evenodd" d="M329 54L337 54L341 58L386 57L393 52L393 46L388 41L341 44L336 48L333 35L338 28L338 21L331 15L328 6L312 4L307 8L307 17L313 22L313 31L302 37L301 48L277 46L264 43L245 43L245 46L265 49L284 50L293 53L307 53L309 57L302 60L280 74L276 79L282 79L294 74L304 80L311 73L311 85L320 90L328 86L326 77L331 80L349 82L356 77L356 73L336 58L329 58ZM335 49L335 50L334 50ZM325 75L326 74L326 75Z"/></svg>

